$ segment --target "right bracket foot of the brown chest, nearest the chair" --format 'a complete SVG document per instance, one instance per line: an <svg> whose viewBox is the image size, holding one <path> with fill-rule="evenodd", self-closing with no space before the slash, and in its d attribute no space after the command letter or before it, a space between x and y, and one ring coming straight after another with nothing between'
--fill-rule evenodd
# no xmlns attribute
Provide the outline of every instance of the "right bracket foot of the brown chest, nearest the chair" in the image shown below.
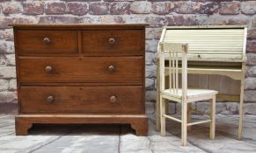
<svg viewBox="0 0 256 153"><path fill-rule="evenodd" d="M148 120L138 120L136 122L131 122L132 129L135 129L137 136L148 136Z"/></svg>

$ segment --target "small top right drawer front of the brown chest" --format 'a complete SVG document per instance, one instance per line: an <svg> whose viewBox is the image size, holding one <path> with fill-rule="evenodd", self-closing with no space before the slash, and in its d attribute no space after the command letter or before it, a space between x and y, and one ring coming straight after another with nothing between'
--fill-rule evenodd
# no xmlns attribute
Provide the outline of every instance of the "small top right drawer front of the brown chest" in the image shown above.
<svg viewBox="0 0 256 153"><path fill-rule="evenodd" d="M88 55L143 55L142 30L83 31L83 52Z"/></svg>

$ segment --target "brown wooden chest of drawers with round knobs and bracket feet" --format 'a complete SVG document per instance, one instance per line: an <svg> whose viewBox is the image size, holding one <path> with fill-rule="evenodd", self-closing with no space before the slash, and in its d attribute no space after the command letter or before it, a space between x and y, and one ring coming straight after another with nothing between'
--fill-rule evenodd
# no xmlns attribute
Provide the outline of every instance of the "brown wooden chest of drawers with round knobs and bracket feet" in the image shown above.
<svg viewBox="0 0 256 153"><path fill-rule="evenodd" d="M145 24L13 24L16 134L33 123L128 123L146 136Z"/></svg>

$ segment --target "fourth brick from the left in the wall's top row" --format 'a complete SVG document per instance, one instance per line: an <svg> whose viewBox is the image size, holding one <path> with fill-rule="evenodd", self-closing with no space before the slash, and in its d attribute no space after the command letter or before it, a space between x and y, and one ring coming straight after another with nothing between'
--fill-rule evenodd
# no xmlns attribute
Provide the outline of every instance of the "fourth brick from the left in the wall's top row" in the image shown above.
<svg viewBox="0 0 256 153"><path fill-rule="evenodd" d="M73 15L83 16L88 12L86 3L68 3L67 12Z"/></svg>

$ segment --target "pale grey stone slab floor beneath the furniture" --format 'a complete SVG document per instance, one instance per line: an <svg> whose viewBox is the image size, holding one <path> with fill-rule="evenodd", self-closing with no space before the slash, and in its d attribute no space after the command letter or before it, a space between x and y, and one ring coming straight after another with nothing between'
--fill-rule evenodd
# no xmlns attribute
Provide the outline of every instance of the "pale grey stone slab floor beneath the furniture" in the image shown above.
<svg viewBox="0 0 256 153"><path fill-rule="evenodd" d="M208 125L194 126L186 147L180 145L179 123L168 122L168 134L162 137L155 131L154 115L149 116L149 136L135 136L128 125L88 124L35 125L29 136L15 136L14 116L0 115L0 152L256 152L256 116L245 116L243 141L237 140L238 116L217 115L216 140L208 139Z"/></svg>

